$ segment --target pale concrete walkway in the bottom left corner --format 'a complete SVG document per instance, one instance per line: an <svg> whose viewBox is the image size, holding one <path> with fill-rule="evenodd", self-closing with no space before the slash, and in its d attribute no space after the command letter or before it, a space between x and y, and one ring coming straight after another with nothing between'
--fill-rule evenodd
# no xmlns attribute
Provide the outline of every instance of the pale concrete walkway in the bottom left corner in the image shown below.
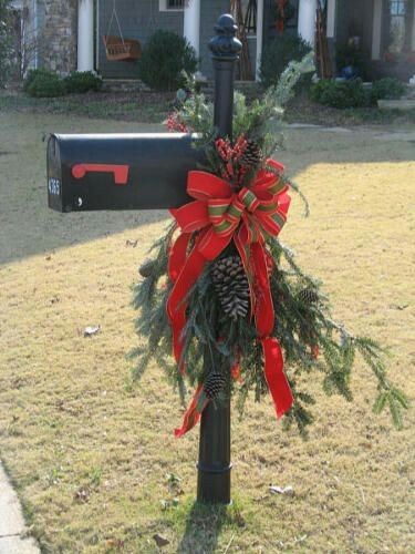
<svg viewBox="0 0 415 554"><path fill-rule="evenodd" d="M27 533L18 496L0 463L0 554L40 554Z"/></svg>

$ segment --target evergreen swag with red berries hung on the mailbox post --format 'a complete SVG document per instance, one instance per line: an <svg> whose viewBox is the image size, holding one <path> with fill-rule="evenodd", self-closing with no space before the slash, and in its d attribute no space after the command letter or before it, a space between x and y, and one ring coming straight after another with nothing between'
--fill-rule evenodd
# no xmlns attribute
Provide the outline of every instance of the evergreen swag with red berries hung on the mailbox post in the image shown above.
<svg viewBox="0 0 415 554"><path fill-rule="evenodd" d="M280 145L278 132L282 106L311 65L311 54L301 62L291 62L277 85L268 89L263 98L253 101L250 106L242 94L236 93L234 134L238 138L235 143L218 138L212 129L212 105L195 90L180 110L169 117L168 126L174 129L177 124L180 131L187 129L198 133L199 146L205 147L208 161L208 166L203 170L227 179L236 189L242 185L249 186L267 157ZM252 166L252 163L256 165ZM267 168L274 171L272 167ZM291 181L286 176L281 178L299 193ZM307 201L303 201L308 213ZM238 407L242 413L249 391L253 390L259 401L268 392L268 384L263 375L262 349L256 340L258 336L252 318L249 315L243 317L243 309L224 309L227 293L218 290L217 280L222 278L220 271L218 274L218 266L229 266L231 270L235 269L235 275L239 275L238 264L235 266L238 252L230 243L218 259L206 264L197 283L188 290L180 359L186 368L183 375L172 359L172 328L166 314L173 288L168 277L168 256L176 233L176 225L170 225L166 235L153 246L155 257L151 264L145 263L145 278L134 289L134 307L138 310L136 330L139 336L146 337L147 342L132 352L132 357L137 358L133 377L138 379L153 358L166 370L183 402L186 397L186 377L191 387L201 388L197 400L199 411L209 399L220 402L228 391L239 391ZM193 240L197 233L194 233ZM293 253L278 238L268 237L267 249L273 260L268 268L277 316L273 336L278 338L284 353L284 370L294 399L284 417L284 427L288 429L294 422L300 433L305 435L307 425L313 421L310 406L315 401L303 389L303 375L319 372L326 394L339 393L351 401L351 372L355 356L360 353L377 379L377 398L373 410L380 413L388 406L395 425L401 428L402 408L407 408L407 400L386 377L385 351L371 338L353 336L332 319L320 284L301 270ZM236 293L230 289L229 294L235 296ZM230 296L229 301L234 296Z"/></svg>

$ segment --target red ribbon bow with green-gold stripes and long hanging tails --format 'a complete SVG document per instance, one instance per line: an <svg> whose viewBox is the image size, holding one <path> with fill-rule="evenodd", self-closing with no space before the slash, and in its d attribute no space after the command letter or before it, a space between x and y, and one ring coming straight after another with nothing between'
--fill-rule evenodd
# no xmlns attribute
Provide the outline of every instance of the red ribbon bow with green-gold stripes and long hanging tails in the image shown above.
<svg viewBox="0 0 415 554"><path fill-rule="evenodd" d="M267 160L268 167L257 173L251 186L236 193L220 177L210 173L193 171L188 174L187 193L195 198L185 206L170 209L181 234L169 255L169 277L174 283L167 301L167 314L173 329L173 348L180 370L186 325L186 296L204 270L207 261L217 258L234 239L248 276L256 327L264 353L264 375L281 417L292 406L292 394L283 373L281 348L273 330L274 311L269 284L269 254L264 248L268 236L277 236L286 223L291 198L288 186L280 178L283 166ZM190 237L199 232L188 254ZM196 396L201 393L199 387ZM184 425L177 435L191 429L198 417L197 402L191 402Z"/></svg>

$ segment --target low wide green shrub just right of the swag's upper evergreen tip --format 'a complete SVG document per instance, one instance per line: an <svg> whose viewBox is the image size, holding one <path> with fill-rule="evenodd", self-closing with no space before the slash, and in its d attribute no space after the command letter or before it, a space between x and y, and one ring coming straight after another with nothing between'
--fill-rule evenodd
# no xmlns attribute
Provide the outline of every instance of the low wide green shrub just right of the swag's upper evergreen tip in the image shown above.
<svg viewBox="0 0 415 554"><path fill-rule="evenodd" d="M360 79L354 81L321 80L312 85L310 92L312 100L331 107L361 107L369 103Z"/></svg>

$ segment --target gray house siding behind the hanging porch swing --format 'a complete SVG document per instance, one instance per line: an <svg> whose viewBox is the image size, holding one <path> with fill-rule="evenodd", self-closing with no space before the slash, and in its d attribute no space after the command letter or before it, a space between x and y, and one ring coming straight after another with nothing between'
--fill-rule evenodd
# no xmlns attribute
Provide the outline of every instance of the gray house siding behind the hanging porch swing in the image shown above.
<svg viewBox="0 0 415 554"><path fill-rule="evenodd" d="M135 62L110 62L105 55L103 35L113 10L113 0L98 0L98 70L104 78L136 79ZM183 11L159 11L158 0L116 0L116 10L125 39L138 39L142 47L157 30L164 29L183 35ZM112 25L110 34L118 34L116 23Z"/></svg>

